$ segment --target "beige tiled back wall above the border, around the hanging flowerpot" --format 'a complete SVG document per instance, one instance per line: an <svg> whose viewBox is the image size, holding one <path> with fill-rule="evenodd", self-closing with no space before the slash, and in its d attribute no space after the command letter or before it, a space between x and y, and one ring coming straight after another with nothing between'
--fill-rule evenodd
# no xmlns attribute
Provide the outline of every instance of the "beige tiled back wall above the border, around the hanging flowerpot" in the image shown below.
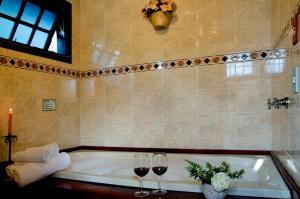
<svg viewBox="0 0 300 199"><path fill-rule="evenodd" d="M171 25L160 32L142 16L147 2L80 4L81 70L271 47L271 0L176 0Z"/></svg>

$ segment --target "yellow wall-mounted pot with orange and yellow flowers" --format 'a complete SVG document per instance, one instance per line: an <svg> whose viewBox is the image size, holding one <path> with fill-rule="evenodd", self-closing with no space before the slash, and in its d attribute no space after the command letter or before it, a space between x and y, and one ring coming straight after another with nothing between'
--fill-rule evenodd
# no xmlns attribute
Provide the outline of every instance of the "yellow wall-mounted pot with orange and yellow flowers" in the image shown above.
<svg viewBox="0 0 300 199"><path fill-rule="evenodd" d="M156 30L166 29L172 19L176 5L173 0L150 0L142 12Z"/></svg>

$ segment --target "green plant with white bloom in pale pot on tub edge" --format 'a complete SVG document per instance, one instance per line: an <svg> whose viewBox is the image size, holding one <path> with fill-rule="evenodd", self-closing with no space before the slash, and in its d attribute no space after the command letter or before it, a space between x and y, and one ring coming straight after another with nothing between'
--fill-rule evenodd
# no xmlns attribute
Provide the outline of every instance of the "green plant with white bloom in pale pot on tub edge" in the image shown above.
<svg viewBox="0 0 300 199"><path fill-rule="evenodd" d="M203 194L207 199L223 199L232 179L239 179L245 173L244 169L231 171L227 162L223 161L220 166L213 166L207 162L205 168L196 162L186 160L185 167L191 177L201 181Z"/></svg>

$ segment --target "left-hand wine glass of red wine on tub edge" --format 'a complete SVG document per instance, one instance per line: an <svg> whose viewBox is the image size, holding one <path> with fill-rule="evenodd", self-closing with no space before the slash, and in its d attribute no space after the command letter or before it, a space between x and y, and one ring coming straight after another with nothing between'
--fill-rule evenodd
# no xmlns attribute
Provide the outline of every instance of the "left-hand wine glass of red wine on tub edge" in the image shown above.
<svg viewBox="0 0 300 199"><path fill-rule="evenodd" d="M140 190L136 191L136 197L146 197L149 195L148 191L143 190L143 177L147 175L150 170L150 159L147 153L134 154L134 173L140 177Z"/></svg>

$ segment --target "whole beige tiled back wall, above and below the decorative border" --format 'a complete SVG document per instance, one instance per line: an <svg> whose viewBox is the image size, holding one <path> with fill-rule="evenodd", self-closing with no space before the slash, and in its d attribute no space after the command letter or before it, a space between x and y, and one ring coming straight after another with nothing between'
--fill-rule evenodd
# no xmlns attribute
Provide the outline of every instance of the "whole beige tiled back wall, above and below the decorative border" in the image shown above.
<svg viewBox="0 0 300 199"><path fill-rule="evenodd" d="M141 15L147 2L81 2L81 70L271 48L270 0L177 0L161 32ZM82 79L81 144L269 150L268 67L262 60Z"/></svg>

